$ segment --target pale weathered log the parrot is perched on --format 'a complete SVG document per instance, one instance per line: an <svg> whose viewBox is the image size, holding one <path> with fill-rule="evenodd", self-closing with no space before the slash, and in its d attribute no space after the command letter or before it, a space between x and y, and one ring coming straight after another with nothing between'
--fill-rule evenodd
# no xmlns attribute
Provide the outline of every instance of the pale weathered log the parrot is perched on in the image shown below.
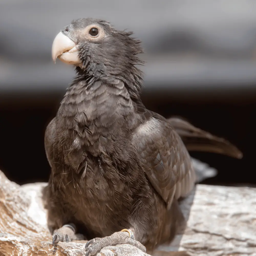
<svg viewBox="0 0 256 256"><path fill-rule="evenodd" d="M52 246L43 200L46 186L47 183L19 186L0 171L1 256L85 255L86 241ZM187 219L186 230L159 250L185 250L197 256L256 255L255 188L197 185L180 205ZM147 254L130 245L119 245L103 248L97 256L102 255Z"/></svg>

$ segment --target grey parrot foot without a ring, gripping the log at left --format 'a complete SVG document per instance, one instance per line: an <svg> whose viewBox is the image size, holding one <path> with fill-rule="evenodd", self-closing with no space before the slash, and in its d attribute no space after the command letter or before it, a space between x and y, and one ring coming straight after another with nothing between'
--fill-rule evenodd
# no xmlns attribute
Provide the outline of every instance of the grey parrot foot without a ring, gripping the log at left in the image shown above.
<svg viewBox="0 0 256 256"><path fill-rule="evenodd" d="M66 224L59 229L54 230L52 244L58 242L71 242L72 240L83 240L82 234L76 234L76 227L73 223Z"/></svg>

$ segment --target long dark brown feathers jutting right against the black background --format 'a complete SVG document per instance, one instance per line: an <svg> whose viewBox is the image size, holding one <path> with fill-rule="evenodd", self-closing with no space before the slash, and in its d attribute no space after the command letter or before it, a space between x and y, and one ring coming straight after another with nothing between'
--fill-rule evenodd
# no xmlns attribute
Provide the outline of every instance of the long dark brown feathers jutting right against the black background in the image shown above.
<svg viewBox="0 0 256 256"><path fill-rule="evenodd" d="M168 122L182 138L188 151L218 153L241 159L242 152L229 141L201 130L180 118L169 118Z"/></svg>

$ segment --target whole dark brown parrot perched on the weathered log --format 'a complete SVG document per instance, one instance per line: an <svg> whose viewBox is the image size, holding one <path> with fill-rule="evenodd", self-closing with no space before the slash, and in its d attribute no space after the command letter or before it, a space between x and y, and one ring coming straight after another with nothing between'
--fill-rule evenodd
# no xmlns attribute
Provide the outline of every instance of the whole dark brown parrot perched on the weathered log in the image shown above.
<svg viewBox="0 0 256 256"><path fill-rule="evenodd" d="M53 47L54 58L77 66L77 76L45 133L52 169L48 224L54 243L81 239L75 233L87 239L110 236L90 241L87 255L108 244L154 250L170 242L183 224L177 199L196 181L178 134L186 141L193 137L188 131L194 126L166 120L144 107L141 71L136 67L142 64L136 57L142 49L131 34L102 20L78 19L58 37L70 48L63 46L59 52L57 39ZM198 134L199 141L207 137L211 143L204 140L204 145L213 146L197 150L225 145L222 153L229 154L231 148L232 156L240 153L224 140L216 146L219 138L205 136L202 130ZM125 228L136 240L120 232Z"/></svg>

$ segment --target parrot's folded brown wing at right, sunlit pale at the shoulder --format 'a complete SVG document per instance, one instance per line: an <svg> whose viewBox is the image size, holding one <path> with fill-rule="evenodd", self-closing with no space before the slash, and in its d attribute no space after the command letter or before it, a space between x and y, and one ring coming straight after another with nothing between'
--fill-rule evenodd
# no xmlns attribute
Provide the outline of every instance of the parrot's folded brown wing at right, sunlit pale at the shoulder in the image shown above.
<svg viewBox="0 0 256 256"><path fill-rule="evenodd" d="M195 184L195 172L191 159L179 135L172 126L151 117L134 133L145 172L152 186L166 202L184 197Z"/></svg>

